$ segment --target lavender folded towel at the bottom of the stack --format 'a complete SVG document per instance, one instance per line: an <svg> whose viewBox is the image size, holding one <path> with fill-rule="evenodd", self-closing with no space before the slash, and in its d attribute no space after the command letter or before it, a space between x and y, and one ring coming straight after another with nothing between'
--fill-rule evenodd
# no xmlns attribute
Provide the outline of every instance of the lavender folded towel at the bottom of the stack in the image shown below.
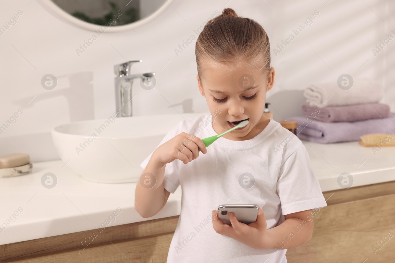
<svg viewBox="0 0 395 263"><path fill-rule="evenodd" d="M318 116L318 115L317 115ZM360 140L359 136L368 133L395 134L395 114L388 118L368 119L355 122L322 122L312 117L296 116L289 118L297 121L297 137L319 143L350 142Z"/></svg>

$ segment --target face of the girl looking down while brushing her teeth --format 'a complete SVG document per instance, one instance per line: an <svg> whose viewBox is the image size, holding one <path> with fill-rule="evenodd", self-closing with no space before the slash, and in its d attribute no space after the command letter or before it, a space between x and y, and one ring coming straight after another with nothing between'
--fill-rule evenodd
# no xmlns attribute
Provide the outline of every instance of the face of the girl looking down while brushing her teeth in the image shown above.
<svg viewBox="0 0 395 263"><path fill-rule="evenodd" d="M213 64L211 64L213 65ZM269 123L262 114L266 92L273 87L274 69L265 75L260 69L249 69L245 64L229 67L205 67L201 82L196 76L201 95L206 97L213 116L216 133L228 131L242 120L248 125L224 135L229 140L249 140L259 134Z"/></svg>

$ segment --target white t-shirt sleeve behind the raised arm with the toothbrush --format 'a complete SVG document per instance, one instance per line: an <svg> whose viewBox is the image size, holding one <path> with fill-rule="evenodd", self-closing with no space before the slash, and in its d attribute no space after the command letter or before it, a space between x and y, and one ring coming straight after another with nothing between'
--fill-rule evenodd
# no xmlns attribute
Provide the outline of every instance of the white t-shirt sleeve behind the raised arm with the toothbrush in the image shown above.
<svg viewBox="0 0 395 263"><path fill-rule="evenodd" d="M175 137L176 135L180 134L181 133L181 132L179 132L180 124L181 124L181 122L177 126L173 127L169 132L167 132L166 136L162 139L162 141L158 144L158 146L156 146L156 148L158 148L160 145L164 144L171 138ZM154 149L154 151L155 151L155 149ZM145 167L147 166L149 160L151 159L152 153L154 151L152 151L150 153L150 155L140 164L141 168L145 169ZM177 188L180 185L180 179L179 179L180 163L179 162L181 162L181 161L178 159L175 159L175 160L173 160L173 162L166 164L166 168L165 168L163 187L167 191L171 192L172 194L174 194L175 190L177 190Z"/></svg>

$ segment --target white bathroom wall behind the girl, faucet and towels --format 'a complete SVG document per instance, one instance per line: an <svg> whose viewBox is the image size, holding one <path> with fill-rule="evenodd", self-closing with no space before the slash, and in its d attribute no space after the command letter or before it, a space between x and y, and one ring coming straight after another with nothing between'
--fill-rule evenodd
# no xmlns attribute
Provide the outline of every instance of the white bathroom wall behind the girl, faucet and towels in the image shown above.
<svg viewBox="0 0 395 263"><path fill-rule="evenodd" d="M389 34L395 36L390 0L174 0L156 20L100 35L79 56L76 48L94 32L54 17L36 0L2 0L1 6L0 27L18 10L23 15L0 35L0 125L19 108L23 114L0 134L0 155L22 151L34 161L59 159L51 128L110 116L115 110L113 65L125 60L143 60L132 73L156 72L153 90L133 86L135 115L183 112L182 104L186 112L188 105L194 112L207 111L196 82L195 42L178 56L175 48L192 34L197 37L194 30L224 7L255 19L269 35L276 84L268 101L276 120L301 114L307 84L336 81L343 73L380 81L386 91L383 101L395 111L395 40L376 56L372 53ZM275 56L273 48L314 10L320 14L313 23ZM58 79L54 90L41 86L48 73Z"/></svg>

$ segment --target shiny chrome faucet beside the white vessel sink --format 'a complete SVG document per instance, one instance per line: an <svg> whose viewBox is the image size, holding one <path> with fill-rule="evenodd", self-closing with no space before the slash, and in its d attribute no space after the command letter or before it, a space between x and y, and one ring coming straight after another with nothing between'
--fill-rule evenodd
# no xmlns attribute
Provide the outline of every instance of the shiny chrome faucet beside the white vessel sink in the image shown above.
<svg viewBox="0 0 395 263"><path fill-rule="evenodd" d="M132 60L122 64L114 65L115 77L115 107L122 110L120 116L132 116L132 85L135 78L140 78L143 83L150 82L155 72L130 75L130 67L133 63L142 60Z"/></svg>

